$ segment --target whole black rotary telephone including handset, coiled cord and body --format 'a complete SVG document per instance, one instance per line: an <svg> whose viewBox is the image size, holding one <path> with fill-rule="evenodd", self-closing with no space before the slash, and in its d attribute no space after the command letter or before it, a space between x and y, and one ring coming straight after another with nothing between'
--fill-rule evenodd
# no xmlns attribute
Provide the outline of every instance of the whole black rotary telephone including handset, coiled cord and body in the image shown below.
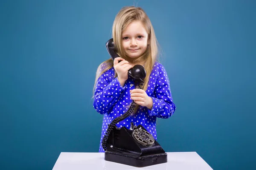
<svg viewBox="0 0 256 170"><path fill-rule="evenodd" d="M108 53L115 59L119 57L114 51L113 38L106 42ZM142 65L134 65L128 71L128 75L135 79L135 82L143 85L146 71ZM105 150L105 160L134 167L145 167L154 164L167 162L167 153L154 137L142 126L135 126L131 122L129 129L116 127L116 123L131 115L135 108L135 102L131 103L128 111L119 116L108 125L108 129L102 139L102 147Z"/></svg>

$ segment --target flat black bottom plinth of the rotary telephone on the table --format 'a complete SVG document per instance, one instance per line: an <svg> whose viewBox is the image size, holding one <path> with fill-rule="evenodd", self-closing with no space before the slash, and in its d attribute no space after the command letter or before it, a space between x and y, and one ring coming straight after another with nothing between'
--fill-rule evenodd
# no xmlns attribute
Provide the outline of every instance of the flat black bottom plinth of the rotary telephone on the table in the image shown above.
<svg viewBox="0 0 256 170"><path fill-rule="evenodd" d="M131 156L105 151L105 160L120 164L127 164L134 167L146 167L154 164L166 163L167 153L160 153L149 156Z"/></svg>

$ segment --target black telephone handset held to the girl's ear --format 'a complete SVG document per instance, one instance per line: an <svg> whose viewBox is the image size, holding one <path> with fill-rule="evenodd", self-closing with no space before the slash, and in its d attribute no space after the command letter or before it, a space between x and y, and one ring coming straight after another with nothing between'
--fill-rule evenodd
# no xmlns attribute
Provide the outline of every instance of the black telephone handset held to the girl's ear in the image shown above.
<svg viewBox="0 0 256 170"><path fill-rule="evenodd" d="M108 42L106 42L106 48L113 60L116 57L119 57L119 55L116 54L115 52L113 38L111 38L110 40L108 40ZM141 81L143 81L143 79L146 77L146 71L142 65L134 65L134 67L128 71L128 75L130 75L134 79L140 79Z"/></svg>

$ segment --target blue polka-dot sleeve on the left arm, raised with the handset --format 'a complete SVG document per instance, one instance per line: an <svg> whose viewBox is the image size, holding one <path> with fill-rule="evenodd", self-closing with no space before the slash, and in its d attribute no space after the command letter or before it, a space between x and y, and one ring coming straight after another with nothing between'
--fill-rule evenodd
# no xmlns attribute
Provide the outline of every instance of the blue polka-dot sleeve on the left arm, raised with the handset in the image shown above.
<svg viewBox="0 0 256 170"><path fill-rule="evenodd" d="M117 77L110 81L105 72L96 81L93 107L100 114L108 113L122 96L125 88L126 85L122 87Z"/></svg>

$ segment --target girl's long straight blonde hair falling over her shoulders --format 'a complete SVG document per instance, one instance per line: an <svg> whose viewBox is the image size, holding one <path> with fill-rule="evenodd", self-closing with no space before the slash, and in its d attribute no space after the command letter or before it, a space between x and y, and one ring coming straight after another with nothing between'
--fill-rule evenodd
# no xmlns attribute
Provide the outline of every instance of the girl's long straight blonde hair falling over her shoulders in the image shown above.
<svg viewBox="0 0 256 170"><path fill-rule="evenodd" d="M151 24L151 21L142 8L135 7L135 6L125 6L118 12L118 14L116 14L115 20L113 22L113 27L112 27L113 42L115 45L116 53L123 59L128 60L129 57L125 54L125 51L122 48L122 32L133 21L140 21L148 33L149 45L146 51L140 57L134 60L134 63L144 63L146 77L145 79L143 79L144 85L142 86L142 89L146 91L152 68L154 66L154 63L157 61L158 43L157 43L157 39L156 39L154 28ZM95 79L95 84L93 88L93 93L95 93L94 90L95 90L97 79L105 71L107 71L112 67L113 67L113 59L111 58L102 62L99 65L96 71L96 79ZM116 72L115 72L115 77L117 77ZM134 113L136 113L138 107L139 105L137 105L136 108L134 109Z"/></svg>

